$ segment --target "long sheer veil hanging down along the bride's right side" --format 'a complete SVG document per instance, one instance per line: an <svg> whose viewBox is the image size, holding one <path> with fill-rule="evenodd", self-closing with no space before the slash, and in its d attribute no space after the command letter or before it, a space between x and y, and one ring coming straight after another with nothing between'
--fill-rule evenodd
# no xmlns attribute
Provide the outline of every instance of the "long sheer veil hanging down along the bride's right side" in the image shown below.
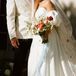
<svg viewBox="0 0 76 76"><path fill-rule="evenodd" d="M76 59L76 40L72 34L72 25L70 23L70 20L68 17L65 15L64 11L61 8L61 5L57 0L50 0L59 15L61 24L57 29L58 36L60 38L62 47L64 47L64 51L67 53L68 60L70 60L72 63L76 64L75 59ZM72 58L70 58L72 57Z"/></svg>

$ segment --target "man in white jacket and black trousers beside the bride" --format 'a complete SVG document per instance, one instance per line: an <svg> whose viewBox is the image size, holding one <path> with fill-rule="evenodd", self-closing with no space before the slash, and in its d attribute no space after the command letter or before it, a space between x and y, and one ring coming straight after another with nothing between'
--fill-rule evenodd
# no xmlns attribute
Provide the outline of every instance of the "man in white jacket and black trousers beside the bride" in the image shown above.
<svg viewBox="0 0 76 76"><path fill-rule="evenodd" d="M7 0L7 28L15 52L13 76L27 76L28 56L32 42L31 6L29 0Z"/></svg>

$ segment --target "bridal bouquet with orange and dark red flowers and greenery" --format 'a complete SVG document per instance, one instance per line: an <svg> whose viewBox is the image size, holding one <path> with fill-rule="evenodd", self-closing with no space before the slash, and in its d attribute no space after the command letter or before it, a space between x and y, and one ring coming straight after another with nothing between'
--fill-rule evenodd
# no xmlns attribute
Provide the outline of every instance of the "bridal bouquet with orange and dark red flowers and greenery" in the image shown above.
<svg viewBox="0 0 76 76"><path fill-rule="evenodd" d="M34 34L38 34L42 38L42 43L48 42L48 34L53 28L53 17L49 16L47 18L40 18L40 20L36 21L34 26Z"/></svg>

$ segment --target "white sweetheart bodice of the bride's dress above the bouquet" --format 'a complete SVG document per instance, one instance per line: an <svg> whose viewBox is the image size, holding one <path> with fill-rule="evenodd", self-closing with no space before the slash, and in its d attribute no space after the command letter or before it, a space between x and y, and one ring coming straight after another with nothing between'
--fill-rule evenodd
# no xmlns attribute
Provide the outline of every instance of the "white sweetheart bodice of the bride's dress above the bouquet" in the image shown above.
<svg viewBox="0 0 76 76"><path fill-rule="evenodd" d="M40 18L46 18L48 16L53 17L53 24L57 24L58 20L58 13L56 10L51 10L47 11L44 7L38 7L36 13L35 13L35 18L39 20Z"/></svg>

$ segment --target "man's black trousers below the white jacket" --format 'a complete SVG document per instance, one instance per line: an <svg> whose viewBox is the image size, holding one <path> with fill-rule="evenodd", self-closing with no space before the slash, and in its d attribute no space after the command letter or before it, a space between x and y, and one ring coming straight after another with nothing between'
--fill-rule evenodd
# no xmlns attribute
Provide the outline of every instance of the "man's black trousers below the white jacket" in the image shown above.
<svg viewBox="0 0 76 76"><path fill-rule="evenodd" d="M14 67L13 67L13 76L28 76L27 75L27 66L28 66L28 57L30 52L30 46L32 39L19 39L20 46L19 48L13 48L15 52L14 58Z"/></svg>

